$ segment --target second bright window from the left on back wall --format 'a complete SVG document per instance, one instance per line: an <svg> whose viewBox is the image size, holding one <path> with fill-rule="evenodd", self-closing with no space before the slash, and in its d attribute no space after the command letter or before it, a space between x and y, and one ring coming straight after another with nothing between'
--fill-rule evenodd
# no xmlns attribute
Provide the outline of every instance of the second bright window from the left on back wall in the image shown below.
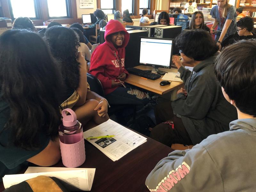
<svg viewBox="0 0 256 192"><path fill-rule="evenodd" d="M68 0L47 0L50 19L69 18Z"/></svg>

